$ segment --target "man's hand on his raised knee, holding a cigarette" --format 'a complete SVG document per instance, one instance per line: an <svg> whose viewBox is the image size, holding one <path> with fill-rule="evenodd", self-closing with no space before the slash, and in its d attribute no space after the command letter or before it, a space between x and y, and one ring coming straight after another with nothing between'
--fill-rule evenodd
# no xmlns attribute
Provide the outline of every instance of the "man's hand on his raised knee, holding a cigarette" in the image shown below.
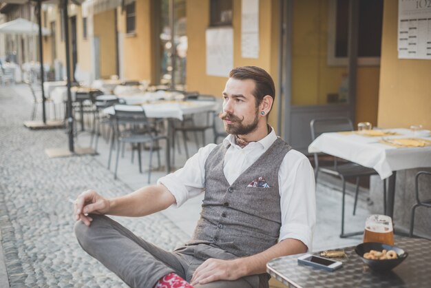
<svg viewBox="0 0 431 288"><path fill-rule="evenodd" d="M76 198L74 205L75 220L82 220L90 226L92 218L88 214L105 214L109 210L109 200L97 194L94 190L87 190Z"/></svg>

